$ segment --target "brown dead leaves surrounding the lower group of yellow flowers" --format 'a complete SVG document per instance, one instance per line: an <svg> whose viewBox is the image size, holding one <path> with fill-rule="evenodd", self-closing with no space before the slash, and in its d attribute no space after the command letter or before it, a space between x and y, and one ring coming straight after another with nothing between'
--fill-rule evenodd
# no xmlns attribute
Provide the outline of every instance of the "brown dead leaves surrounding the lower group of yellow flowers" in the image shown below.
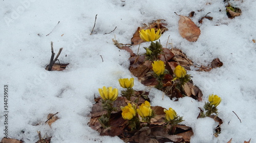
<svg viewBox="0 0 256 143"><path fill-rule="evenodd" d="M141 96L142 91L136 92L136 97ZM132 101L135 101L135 97L132 97ZM148 99L147 99L148 100ZM101 100L95 103L91 111L91 120L88 123L89 126L97 130L100 135L109 135L109 136L118 136L124 142L139 142L139 143L148 143L148 142L189 142L190 137L193 135L193 131L190 127L185 125L178 125L176 135L169 135L168 130L171 128L170 125L166 125L164 121L165 112L163 107L152 106L152 109L155 111L156 116L151 119L151 125L149 127L143 127L144 123L141 123L142 128L140 130L131 131L127 125L127 121L122 118L120 106L126 106L127 103L132 101L127 100L124 97L118 97L114 102L114 106L117 107L117 111L111 113L111 127L103 128L98 121L98 118L106 113L102 109ZM132 102L135 105L143 103L145 99L143 96L139 98L138 101Z"/></svg>

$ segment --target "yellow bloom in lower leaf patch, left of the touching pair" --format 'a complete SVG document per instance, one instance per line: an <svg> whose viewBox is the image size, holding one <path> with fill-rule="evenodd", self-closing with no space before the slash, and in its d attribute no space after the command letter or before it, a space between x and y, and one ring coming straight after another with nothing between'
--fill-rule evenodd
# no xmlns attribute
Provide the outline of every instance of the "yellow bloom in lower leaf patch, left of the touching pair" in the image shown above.
<svg viewBox="0 0 256 143"><path fill-rule="evenodd" d="M131 120L136 116L136 106L135 104L128 103L127 106L121 107L122 117L124 120Z"/></svg>

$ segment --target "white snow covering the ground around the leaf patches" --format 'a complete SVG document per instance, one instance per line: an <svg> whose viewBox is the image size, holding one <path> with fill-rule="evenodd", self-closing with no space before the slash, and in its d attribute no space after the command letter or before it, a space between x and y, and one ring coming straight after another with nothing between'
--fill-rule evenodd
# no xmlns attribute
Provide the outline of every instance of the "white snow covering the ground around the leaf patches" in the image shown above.
<svg viewBox="0 0 256 143"><path fill-rule="evenodd" d="M153 106L172 107L183 116L183 124L194 131L191 142L227 142L230 138L232 142L250 138L254 142L256 52L252 39L256 38L256 1L229 3L239 7L242 15L227 18L226 4L216 0L1 1L0 83L1 95L4 85L9 87L8 137L35 142L36 131L41 131L42 136L52 136L53 143L123 142L118 137L99 136L87 125L94 95L99 96L98 88L111 86L121 90L118 79L134 77L127 69L129 53L119 50L112 39L130 43L142 23L165 19L168 31L160 38L164 46L170 36L174 47L183 50L196 65L208 65L215 58L224 63L210 72L188 71L202 90L204 101L210 94L222 98L218 106L219 117L223 120L221 133L218 137L213 135L217 123L212 119L197 119L198 107L202 107L204 101L184 97L175 102L166 96L162 100L160 91L145 87L137 78L134 89L150 91ZM188 42L179 35L179 16L174 13L188 15L191 11L196 12L191 19L201 30L197 42ZM198 20L208 12L212 21L204 19L203 24L199 24ZM90 35L96 14L96 25ZM116 26L114 32L104 35ZM51 41L55 53L63 47L59 61L70 63L64 71L45 70L51 56ZM143 43L141 47L147 45ZM132 49L137 52L138 45ZM144 52L140 48L139 53ZM4 113L3 96L1 98L0 109ZM50 128L44 122L49 113L56 112L60 119ZM1 116L1 130L4 121Z"/></svg>

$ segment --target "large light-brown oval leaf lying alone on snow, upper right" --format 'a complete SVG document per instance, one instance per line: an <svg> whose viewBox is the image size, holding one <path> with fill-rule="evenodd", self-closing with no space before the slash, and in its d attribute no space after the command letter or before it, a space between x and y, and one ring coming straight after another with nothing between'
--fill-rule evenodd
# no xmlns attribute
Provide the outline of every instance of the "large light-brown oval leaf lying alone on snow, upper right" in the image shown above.
<svg viewBox="0 0 256 143"><path fill-rule="evenodd" d="M200 28L188 17L180 15L179 33L187 41L196 42L201 31Z"/></svg>

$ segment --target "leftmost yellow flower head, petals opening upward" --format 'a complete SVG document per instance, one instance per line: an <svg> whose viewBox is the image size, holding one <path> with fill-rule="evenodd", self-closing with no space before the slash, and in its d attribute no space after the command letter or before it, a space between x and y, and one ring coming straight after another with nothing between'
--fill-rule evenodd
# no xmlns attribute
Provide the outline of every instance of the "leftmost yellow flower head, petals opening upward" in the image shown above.
<svg viewBox="0 0 256 143"><path fill-rule="evenodd" d="M118 96L118 89L112 90L112 87L106 88L104 86L103 89L99 89L99 94L103 100L115 101Z"/></svg>

